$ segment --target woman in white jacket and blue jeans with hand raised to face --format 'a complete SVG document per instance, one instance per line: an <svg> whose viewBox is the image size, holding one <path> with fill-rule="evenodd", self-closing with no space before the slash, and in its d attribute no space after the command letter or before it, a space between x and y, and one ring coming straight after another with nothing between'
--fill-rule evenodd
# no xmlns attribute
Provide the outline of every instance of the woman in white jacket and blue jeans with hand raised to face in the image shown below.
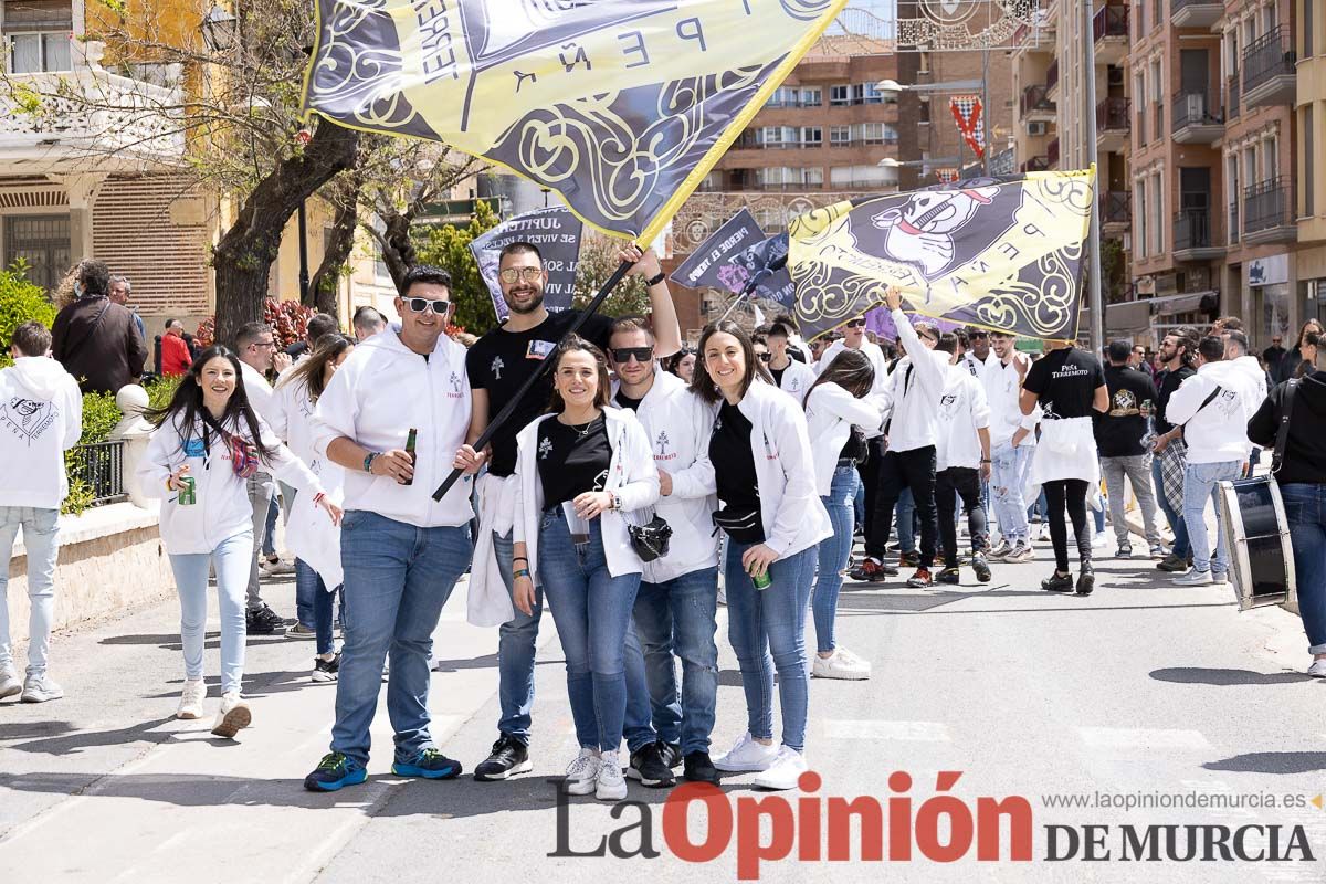
<svg viewBox="0 0 1326 884"><path fill-rule="evenodd" d="M806 394L815 490L833 524L833 535L819 542L819 575L812 599L818 644L813 675L817 679L870 677L870 661L834 641L834 619L842 571L851 558L854 504L861 484L857 464L866 456L866 433L876 432L882 419L879 400L869 395L874 382L875 367L870 358L859 350L843 350Z"/></svg>

